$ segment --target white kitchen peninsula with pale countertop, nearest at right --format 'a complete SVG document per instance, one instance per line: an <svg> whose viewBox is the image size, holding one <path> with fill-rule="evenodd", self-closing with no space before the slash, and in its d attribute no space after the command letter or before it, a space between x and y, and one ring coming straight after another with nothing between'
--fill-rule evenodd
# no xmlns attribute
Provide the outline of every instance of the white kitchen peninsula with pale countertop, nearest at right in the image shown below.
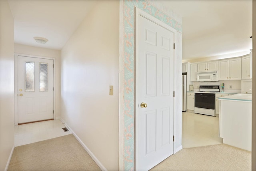
<svg viewBox="0 0 256 171"><path fill-rule="evenodd" d="M220 98L219 137L223 143L252 151L252 96Z"/></svg>

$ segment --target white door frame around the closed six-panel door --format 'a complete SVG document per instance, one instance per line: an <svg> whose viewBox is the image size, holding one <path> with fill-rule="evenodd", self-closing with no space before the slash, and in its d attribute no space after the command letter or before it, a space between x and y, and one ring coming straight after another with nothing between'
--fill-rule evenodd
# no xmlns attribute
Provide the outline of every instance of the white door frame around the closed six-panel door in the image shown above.
<svg viewBox="0 0 256 171"><path fill-rule="evenodd" d="M135 113L134 113L134 115L135 115L135 128L134 128L134 137L135 137L135 144L134 144L134 151L135 151L135 170L136 170L136 161L137 161L137 159L136 159L136 156L138 155L138 151L136 150L136 146L138 146L138 141L136 141L136 139L138 138L137 136L137 133L136 133L136 127L138 127L138 123L136 122L136 120L138 120L138 115L136 115L136 113L138 112L138 109L139 109L139 106L137 105L137 101L138 101L138 99L137 99L137 96L136 96L136 87L138 86L137 84L136 84L136 79L137 79L137 75L136 75L136 70L138 70L138 66L136 65L136 63L137 63L137 61L138 61L138 58L136 58L136 56L137 56L137 54L138 54L138 48L137 48L137 44L136 44L136 42L138 41L137 40L137 37L138 36L136 36L136 35L138 35L138 29L137 29L137 26L136 26L136 23L138 23L138 18L139 18L139 16L142 16L142 17L144 17L144 18L146 18L146 19L148 19L148 20L150 20L151 22L154 22L155 24L157 24L157 25L159 25L159 26L161 26L161 27L163 27L163 28L166 28L167 30L169 30L169 31L171 31L171 32L173 32L174 33L174 43L176 43L177 42L177 40L176 40L176 34L177 34L177 30L175 30L174 28L172 28L172 27L170 27L170 26L168 26L167 24L165 24L164 22L162 22L162 21L160 21L160 20L158 20L157 18L154 18L153 16L151 16L150 14L148 14L148 13L146 13L146 12L144 12L143 10L141 10L140 8L135 8L135 54L134 54L134 58L135 58L135 101L134 101L134 104L135 104ZM173 63L174 63L174 66L173 66L173 70L174 70L174 75L173 75L173 79L175 78L175 74L176 74L176 71L175 71L175 58L176 58L176 53L175 53L175 50L174 50L174 61L173 61ZM173 82L173 84L174 84L174 91L175 91L175 84L176 84L176 80L174 79L174 82ZM173 112L175 111L175 100L176 100L176 98L174 97L174 101L173 101ZM176 124L175 124L175 122L174 122L174 118L175 117L175 113L173 114L173 135L175 134L175 126L176 126ZM176 153L176 150L175 150L175 146L174 146L174 143L175 143L175 141L173 142L173 151L172 151L172 154L174 154L174 153Z"/></svg>

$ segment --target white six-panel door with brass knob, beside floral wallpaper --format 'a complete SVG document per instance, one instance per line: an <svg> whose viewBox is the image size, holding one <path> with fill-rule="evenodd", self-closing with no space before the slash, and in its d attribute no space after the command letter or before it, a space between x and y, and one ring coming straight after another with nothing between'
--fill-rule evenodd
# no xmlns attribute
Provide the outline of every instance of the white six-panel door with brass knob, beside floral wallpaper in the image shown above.
<svg viewBox="0 0 256 171"><path fill-rule="evenodd" d="M136 170L173 154L174 32L136 20ZM146 106L143 106L146 103Z"/></svg>

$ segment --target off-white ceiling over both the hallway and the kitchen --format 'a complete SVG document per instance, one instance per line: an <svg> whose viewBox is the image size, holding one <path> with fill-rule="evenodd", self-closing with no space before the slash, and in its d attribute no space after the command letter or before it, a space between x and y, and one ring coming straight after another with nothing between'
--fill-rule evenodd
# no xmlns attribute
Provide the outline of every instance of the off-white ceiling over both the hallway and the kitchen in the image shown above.
<svg viewBox="0 0 256 171"><path fill-rule="evenodd" d="M101 0L8 0L14 42L60 50ZM182 59L252 49L252 0L157 0L182 16ZM33 37L47 38L38 44Z"/></svg>

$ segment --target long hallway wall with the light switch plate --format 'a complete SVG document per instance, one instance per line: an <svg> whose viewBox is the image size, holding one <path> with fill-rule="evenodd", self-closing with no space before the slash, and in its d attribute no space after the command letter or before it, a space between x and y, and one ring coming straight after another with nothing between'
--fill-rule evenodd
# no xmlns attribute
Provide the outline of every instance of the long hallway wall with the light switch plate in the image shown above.
<svg viewBox="0 0 256 171"><path fill-rule="evenodd" d="M100 1L61 50L61 118L107 170L118 170L118 61L119 1Z"/></svg>

